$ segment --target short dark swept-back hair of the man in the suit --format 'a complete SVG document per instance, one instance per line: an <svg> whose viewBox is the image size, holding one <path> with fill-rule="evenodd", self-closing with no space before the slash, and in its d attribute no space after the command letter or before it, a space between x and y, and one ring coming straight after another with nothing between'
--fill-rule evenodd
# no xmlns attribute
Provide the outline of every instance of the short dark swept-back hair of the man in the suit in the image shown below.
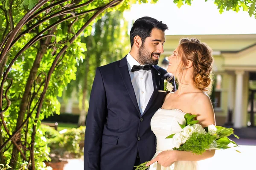
<svg viewBox="0 0 256 170"><path fill-rule="evenodd" d="M158 21L151 17L142 17L137 19L130 31L130 41L131 41L131 47L134 44L134 37L136 35L140 36L142 40L142 44L144 43L145 39L147 37L150 37L151 31L153 28L160 29L162 31L166 31L168 29L168 26L166 24L163 24L162 21Z"/></svg>

